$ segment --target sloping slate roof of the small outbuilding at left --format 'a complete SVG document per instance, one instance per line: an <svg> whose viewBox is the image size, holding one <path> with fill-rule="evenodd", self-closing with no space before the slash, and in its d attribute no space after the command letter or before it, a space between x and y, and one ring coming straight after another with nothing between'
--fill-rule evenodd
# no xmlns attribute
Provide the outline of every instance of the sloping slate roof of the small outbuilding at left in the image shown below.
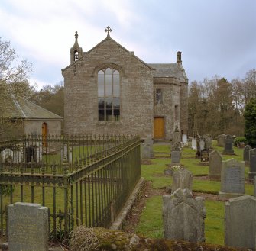
<svg viewBox="0 0 256 251"><path fill-rule="evenodd" d="M47 120L63 120L53 112L35 105L27 99L21 98L18 95L9 95L3 101L5 105L2 117L7 118L24 118L24 119L47 119Z"/></svg>

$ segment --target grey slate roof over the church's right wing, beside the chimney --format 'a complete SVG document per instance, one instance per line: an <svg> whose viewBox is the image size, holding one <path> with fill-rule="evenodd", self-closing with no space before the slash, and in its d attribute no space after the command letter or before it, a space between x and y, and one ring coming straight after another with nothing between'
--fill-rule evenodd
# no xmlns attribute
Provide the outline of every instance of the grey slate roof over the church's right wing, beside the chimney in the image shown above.
<svg viewBox="0 0 256 251"><path fill-rule="evenodd" d="M178 63L147 63L147 65L155 69L154 77L173 77L180 79L181 82L187 81L186 74Z"/></svg>

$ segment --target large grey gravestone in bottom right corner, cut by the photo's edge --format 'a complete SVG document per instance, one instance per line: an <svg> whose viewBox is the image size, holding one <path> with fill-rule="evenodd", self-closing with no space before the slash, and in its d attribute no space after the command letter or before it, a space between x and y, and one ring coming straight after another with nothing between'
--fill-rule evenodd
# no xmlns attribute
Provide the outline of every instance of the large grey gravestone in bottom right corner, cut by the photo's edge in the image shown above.
<svg viewBox="0 0 256 251"><path fill-rule="evenodd" d="M245 195L225 202L225 245L256 248L256 198Z"/></svg>

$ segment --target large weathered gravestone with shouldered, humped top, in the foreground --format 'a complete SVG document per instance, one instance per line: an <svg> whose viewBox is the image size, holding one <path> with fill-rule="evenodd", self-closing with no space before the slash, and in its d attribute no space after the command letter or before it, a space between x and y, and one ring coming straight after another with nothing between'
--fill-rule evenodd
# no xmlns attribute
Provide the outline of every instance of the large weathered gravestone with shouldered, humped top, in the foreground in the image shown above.
<svg viewBox="0 0 256 251"><path fill-rule="evenodd" d="M206 209L202 197L193 198L187 188L163 196L164 238L204 242Z"/></svg>

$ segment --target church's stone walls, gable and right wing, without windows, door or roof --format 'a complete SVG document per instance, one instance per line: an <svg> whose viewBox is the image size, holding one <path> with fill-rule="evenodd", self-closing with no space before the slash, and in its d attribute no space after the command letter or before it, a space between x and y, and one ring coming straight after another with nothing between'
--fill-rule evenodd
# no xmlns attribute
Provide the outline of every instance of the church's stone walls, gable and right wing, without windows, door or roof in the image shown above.
<svg viewBox="0 0 256 251"><path fill-rule="evenodd" d="M79 47L78 43L75 45ZM70 52L73 51L71 48ZM120 74L118 121L99 121L98 117L98 72L108 67L118 70ZM179 67L174 68L175 73ZM187 101L184 101L186 108L183 108L181 97L187 100L187 86L184 92L183 83L179 79L173 76L162 79L154 77L155 72L154 64L144 63L111 37L102 40L96 47L83 53L83 56L79 55L78 60L70 62L70 66L62 70L65 85L64 132L154 137L154 117L164 119L164 139L172 137L175 124L186 130ZM180 76L183 76L181 73L179 72ZM163 92L162 106L154 105L156 88ZM175 105L179 110L176 117ZM185 115L180 114L180 111Z"/></svg>

